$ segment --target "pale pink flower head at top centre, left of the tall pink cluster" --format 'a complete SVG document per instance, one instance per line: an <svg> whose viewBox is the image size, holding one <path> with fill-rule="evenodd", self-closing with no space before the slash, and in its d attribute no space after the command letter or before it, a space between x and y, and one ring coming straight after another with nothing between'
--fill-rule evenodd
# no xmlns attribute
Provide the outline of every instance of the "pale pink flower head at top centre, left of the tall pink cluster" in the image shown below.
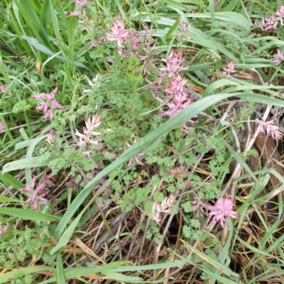
<svg viewBox="0 0 284 284"><path fill-rule="evenodd" d="M112 22L109 33L106 33L107 41L116 41L119 50L121 50L122 42L131 38L130 30L124 28L124 20L121 18L115 18Z"/></svg>

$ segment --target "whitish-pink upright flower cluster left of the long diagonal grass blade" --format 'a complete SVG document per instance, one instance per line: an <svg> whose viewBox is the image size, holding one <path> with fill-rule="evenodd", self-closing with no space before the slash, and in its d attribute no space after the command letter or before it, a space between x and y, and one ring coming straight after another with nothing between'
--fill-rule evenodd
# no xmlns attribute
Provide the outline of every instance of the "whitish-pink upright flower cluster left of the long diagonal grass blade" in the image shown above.
<svg viewBox="0 0 284 284"><path fill-rule="evenodd" d="M83 134L80 133L77 129L75 130L75 135L79 137L79 142L75 145L77 146L86 146L87 144L99 144L99 141L93 140L93 135L102 135L104 132L110 132L111 130L105 130L104 132L94 132L94 128L98 127L102 123L102 118L100 115L93 115L92 119L87 118L85 120L86 126L83 127ZM88 154L85 152L84 154ZM89 154L88 154L89 155Z"/></svg>

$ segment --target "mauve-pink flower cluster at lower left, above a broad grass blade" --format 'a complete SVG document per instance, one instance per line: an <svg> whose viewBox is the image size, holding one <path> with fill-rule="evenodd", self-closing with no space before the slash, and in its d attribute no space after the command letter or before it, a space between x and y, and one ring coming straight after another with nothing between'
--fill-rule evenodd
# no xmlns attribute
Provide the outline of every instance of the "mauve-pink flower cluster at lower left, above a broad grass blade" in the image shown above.
<svg viewBox="0 0 284 284"><path fill-rule="evenodd" d="M25 201L25 204L29 204L29 208L38 211L40 210L39 205L44 205L48 203L48 200L45 198L45 195L48 194L48 186L54 186L54 176L53 174L44 176L42 183L40 183L36 188L35 179L36 178L34 176L31 184L26 184L26 188L20 188L18 191L28 197L28 199Z"/></svg>

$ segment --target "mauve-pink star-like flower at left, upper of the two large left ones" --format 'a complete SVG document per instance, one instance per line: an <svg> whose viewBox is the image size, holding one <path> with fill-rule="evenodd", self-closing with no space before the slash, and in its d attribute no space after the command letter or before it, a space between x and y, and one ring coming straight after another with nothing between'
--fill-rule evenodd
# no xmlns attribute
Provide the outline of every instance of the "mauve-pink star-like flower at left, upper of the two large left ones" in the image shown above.
<svg viewBox="0 0 284 284"><path fill-rule="evenodd" d="M58 101L55 101L54 95L58 91L58 87L56 87L51 93L40 93L39 95L32 96L36 100L38 99L44 99L45 102L40 101L40 106L35 108L36 110L43 110L43 113L45 114L43 116L44 121L48 119L48 116L50 117L50 120L53 120L53 111L55 108L64 109L65 106L61 106ZM48 108L50 108L48 110Z"/></svg>

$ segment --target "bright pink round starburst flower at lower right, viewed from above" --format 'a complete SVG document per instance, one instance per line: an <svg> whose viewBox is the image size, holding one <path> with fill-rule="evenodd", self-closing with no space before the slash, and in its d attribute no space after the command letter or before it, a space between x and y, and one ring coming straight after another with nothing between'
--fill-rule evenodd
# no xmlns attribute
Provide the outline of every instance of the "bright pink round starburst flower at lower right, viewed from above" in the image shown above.
<svg viewBox="0 0 284 284"><path fill-rule="evenodd" d="M209 215L213 216L213 224L220 221L222 227L224 227L226 217L236 219L236 216L238 215L238 213L233 210L234 203L231 197L227 197L224 200L222 197L219 197L214 205L206 205L206 208L211 211Z"/></svg>

